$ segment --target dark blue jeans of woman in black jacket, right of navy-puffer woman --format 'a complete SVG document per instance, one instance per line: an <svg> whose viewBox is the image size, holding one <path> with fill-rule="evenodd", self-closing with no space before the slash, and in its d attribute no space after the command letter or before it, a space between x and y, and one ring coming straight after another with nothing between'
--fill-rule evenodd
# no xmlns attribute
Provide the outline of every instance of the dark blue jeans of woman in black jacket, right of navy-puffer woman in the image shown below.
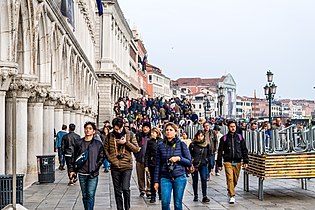
<svg viewBox="0 0 315 210"><path fill-rule="evenodd" d="M208 175L208 168L207 165L199 166L198 171L195 171L192 174L193 180L193 189L194 189L194 196L198 197L198 172L200 174L201 179L201 189L202 189L202 196L207 196L207 175Z"/></svg>

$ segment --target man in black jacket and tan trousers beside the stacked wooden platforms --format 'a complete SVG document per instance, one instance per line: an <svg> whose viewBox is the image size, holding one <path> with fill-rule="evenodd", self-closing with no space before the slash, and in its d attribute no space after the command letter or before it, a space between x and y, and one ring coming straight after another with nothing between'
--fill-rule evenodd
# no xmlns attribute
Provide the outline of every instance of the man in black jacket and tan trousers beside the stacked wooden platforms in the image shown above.
<svg viewBox="0 0 315 210"><path fill-rule="evenodd" d="M226 175L227 190L230 197L229 203L235 203L235 186L241 170L248 167L248 150L242 135L236 133L236 122L228 122L229 132L220 139L218 149L218 168L222 170L222 156L224 159L224 169Z"/></svg>

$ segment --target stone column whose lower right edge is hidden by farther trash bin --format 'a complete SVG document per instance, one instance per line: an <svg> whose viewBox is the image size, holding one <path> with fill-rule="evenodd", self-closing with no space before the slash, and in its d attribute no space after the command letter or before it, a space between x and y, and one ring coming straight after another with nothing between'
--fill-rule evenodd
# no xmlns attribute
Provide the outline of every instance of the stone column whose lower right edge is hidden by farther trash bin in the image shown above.
<svg viewBox="0 0 315 210"><path fill-rule="evenodd" d="M28 103L27 116L27 173L34 174L36 155L43 154L43 103Z"/></svg>

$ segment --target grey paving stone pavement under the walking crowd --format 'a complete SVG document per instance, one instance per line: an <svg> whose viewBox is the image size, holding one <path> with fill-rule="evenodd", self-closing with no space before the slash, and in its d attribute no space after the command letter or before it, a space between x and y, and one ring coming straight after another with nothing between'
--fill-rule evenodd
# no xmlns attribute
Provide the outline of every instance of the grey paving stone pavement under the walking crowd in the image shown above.
<svg viewBox="0 0 315 210"><path fill-rule="evenodd" d="M150 204L146 198L139 197L135 170L131 180L131 209L156 210L161 209L160 202ZM208 196L210 203L193 202L191 177L188 178L183 200L184 209L315 209L315 181L308 181L308 190L301 189L297 179L267 179L264 182L264 201L257 198L257 178L250 176L249 192L243 191L243 174L241 173L236 188L236 203L228 204L226 196L225 176L212 176L208 182ZM24 190L24 207L37 210L81 210L83 209L79 183L67 186L66 171L56 170L56 181L50 184L34 183ZM199 186L199 195L201 186ZM201 199L201 198L200 198ZM100 171L99 184L96 191L95 210L116 209L114 189L110 173ZM172 209L174 209L172 207Z"/></svg>

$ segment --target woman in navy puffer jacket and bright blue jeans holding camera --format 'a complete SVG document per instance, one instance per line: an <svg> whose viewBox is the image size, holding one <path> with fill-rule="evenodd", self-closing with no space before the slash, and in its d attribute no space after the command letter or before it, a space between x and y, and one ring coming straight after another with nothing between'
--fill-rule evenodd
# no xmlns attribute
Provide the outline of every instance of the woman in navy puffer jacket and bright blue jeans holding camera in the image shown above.
<svg viewBox="0 0 315 210"><path fill-rule="evenodd" d="M162 210L170 210L172 191L175 210L183 209L186 167L191 166L191 156L186 144L178 138L177 130L174 123L167 123L165 138L157 147L154 188L158 190L161 185Z"/></svg>

